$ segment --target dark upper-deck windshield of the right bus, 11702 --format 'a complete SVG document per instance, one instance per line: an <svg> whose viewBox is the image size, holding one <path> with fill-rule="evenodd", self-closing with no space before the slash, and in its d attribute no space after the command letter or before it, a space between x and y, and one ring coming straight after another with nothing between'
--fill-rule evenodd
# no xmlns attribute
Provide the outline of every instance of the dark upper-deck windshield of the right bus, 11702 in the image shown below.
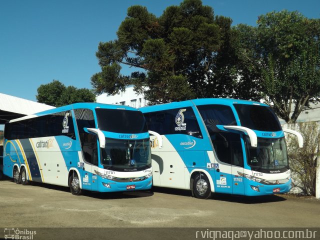
<svg viewBox="0 0 320 240"><path fill-rule="evenodd" d="M269 106L233 104L241 126L258 131L280 131L281 125Z"/></svg>

